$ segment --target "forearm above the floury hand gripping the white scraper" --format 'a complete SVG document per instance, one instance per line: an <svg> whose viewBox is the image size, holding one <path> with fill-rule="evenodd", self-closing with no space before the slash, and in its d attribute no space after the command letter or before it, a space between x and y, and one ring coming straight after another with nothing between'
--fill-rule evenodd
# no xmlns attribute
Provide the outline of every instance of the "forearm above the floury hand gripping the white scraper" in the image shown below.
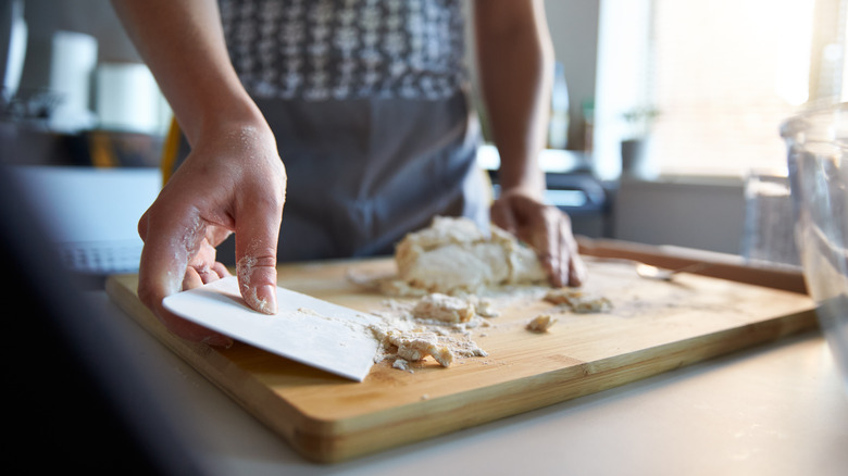
<svg viewBox="0 0 848 476"><path fill-rule="evenodd" d="M112 0L190 143L264 121L234 71L215 0Z"/></svg>

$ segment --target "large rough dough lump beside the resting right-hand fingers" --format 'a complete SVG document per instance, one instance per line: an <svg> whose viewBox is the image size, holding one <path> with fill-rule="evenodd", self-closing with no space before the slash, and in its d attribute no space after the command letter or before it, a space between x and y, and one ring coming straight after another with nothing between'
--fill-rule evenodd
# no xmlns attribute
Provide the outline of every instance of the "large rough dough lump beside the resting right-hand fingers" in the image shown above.
<svg viewBox="0 0 848 476"><path fill-rule="evenodd" d="M400 283L385 290L396 293L476 293L547 279L531 248L495 225L487 237L462 217L437 216L428 228L407 235L396 248L395 261Z"/></svg>

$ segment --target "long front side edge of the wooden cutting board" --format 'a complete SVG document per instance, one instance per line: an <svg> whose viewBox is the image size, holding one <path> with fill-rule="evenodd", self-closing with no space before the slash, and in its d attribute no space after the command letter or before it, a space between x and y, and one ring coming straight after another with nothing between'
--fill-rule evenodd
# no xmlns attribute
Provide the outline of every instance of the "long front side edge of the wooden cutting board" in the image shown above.
<svg viewBox="0 0 848 476"><path fill-rule="evenodd" d="M345 427L351 430L345 434L298 430L291 443L298 453L317 463L349 461L620 387L812 330L816 326L814 310L803 311L661 345L647 351L587 362L582 365L585 377L579 385L573 379L563 380L565 374L573 376L572 368L553 371L471 390L461 398L448 396L386 411L406 415L369 415L367 421L385 424L369 425L365 418L360 422L354 422L356 417L349 418ZM469 401L475 404L469 408ZM358 429L352 429L357 426ZM332 431L333 427L323 425L321 428Z"/></svg>

